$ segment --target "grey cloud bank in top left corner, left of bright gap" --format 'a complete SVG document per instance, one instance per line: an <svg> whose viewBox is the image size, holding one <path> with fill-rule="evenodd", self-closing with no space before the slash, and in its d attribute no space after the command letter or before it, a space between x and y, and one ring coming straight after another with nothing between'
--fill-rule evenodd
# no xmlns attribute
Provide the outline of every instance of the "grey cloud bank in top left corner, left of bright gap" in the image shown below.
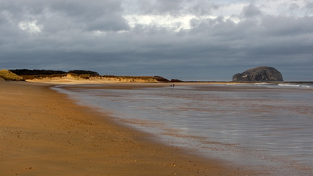
<svg viewBox="0 0 313 176"><path fill-rule="evenodd" d="M4 4L4 5L2 5ZM82 30L128 30L129 26L122 18L121 2L118 0L5 0L0 10L10 16L16 24L37 20L38 24L47 24L48 31L80 28ZM53 23L56 28L52 29Z"/></svg>

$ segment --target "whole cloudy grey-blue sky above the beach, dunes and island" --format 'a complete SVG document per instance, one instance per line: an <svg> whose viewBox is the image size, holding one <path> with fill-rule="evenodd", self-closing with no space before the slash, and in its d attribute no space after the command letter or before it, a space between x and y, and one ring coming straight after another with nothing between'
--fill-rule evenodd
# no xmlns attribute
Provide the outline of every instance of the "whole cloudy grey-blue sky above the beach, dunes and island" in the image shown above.
<svg viewBox="0 0 313 176"><path fill-rule="evenodd" d="M0 69L313 81L313 0L0 0Z"/></svg>

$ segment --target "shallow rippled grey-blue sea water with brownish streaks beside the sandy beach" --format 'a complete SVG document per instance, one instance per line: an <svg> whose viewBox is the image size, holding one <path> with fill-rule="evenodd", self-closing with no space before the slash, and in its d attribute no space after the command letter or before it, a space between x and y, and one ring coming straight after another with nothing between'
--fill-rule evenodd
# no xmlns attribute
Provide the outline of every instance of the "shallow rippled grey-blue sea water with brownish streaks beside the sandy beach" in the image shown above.
<svg viewBox="0 0 313 176"><path fill-rule="evenodd" d="M95 87L53 89L194 154L272 176L313 175L313 84Z"/></svg>

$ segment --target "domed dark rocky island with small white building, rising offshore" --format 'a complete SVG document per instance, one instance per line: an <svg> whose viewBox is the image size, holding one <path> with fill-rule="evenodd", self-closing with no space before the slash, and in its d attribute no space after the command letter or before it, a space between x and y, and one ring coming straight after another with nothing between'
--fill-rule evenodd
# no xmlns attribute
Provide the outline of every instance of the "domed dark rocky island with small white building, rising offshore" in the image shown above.
<svg viewBox="0 0 313 176"><path fill-rule="evenodd" d="M283 76L273 67L258 66L235 74L233 81L283 81Z"/></svg>

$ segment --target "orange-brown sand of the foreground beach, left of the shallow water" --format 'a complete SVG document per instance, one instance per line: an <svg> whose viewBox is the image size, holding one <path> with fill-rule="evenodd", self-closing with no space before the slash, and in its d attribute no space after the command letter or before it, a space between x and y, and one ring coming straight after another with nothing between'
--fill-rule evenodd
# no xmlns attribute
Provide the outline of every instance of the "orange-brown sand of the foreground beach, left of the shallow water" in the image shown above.
<svg viewBox="0 0 313 176"><path fill-rule="evenodd" d="M151 140L47 84L0 81L0 176L246 176Z"/></svg>

